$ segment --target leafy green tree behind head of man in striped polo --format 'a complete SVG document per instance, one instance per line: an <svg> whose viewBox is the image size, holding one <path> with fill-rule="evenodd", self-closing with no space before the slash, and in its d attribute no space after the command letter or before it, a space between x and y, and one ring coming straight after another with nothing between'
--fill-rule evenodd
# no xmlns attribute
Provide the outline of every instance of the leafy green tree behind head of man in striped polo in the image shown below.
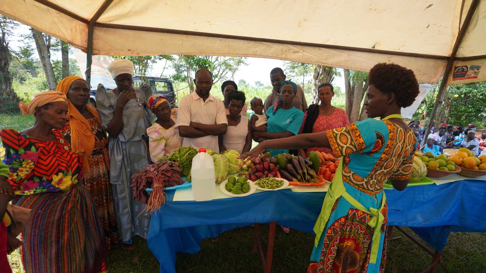
<svg viewBox="0 0 486 273"><path fill-rule="evenodd" d="M207 68L213 75L213 84L220 80L232 79L241 65L248 65L244 57L225 57L225 56L192 56L179 55L174 60L172 67L175 74L172 79L185 81L188 83L191 92L194 92L193 79L194 72L201 68Z"/></svg>

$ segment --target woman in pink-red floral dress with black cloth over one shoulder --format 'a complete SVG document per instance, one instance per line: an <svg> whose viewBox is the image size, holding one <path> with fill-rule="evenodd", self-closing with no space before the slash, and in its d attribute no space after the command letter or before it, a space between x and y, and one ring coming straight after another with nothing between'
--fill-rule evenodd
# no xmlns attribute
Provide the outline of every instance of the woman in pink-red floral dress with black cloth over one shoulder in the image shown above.
<svg viewBox="0 0 486 273"><path fill-rule="evenodd" d="M325 132L334 128L346 127L349 125L349 119L346 111L331 105L332 97L334 96L334 88L332 85L325 83L317 87L319 91L319 104L312 104L304 113L304 120L300 126L299 134L310 134ZM309 157L309 152L319 151L328 154L333 154L328 148L310 148L307 150L300 150L301 156Z"/></svg>

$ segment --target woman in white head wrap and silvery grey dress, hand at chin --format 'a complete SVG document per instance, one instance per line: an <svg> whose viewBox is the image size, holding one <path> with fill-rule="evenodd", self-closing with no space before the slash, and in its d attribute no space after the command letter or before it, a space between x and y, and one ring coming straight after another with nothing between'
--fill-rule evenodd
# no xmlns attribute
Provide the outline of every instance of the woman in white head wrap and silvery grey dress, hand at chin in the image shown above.
<svg viewBox="0 0 486 273"><path fill-rule="evenodd" d="M118 234L131 248L134 247L131 245L133 236L147 238L150 222L150 215L139 216L145 205L133 199L130 184L132 175L150 164L147 128L155 116L147 109L146 102L152 91L132 86L133 63L129 60L115 60L108 70L117 87L105 91L103 85L98 85L96 105L108 133L110 183Z"/></svg>

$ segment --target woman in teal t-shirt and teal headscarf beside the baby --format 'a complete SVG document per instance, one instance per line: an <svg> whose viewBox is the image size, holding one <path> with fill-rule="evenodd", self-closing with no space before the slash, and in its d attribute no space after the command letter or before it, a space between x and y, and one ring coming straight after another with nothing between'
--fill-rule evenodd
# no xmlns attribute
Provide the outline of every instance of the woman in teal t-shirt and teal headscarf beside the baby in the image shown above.
<svg viewBox="0 0 486 273"><path fill-rule="evenodd" d="M265 113L268 117L266 132L253 132L256 138L277 139L295 136L300 130L304 119L304 112L295 108L292 102L297 94L297 85L291 81L283 81L280 84L280 99L270 106ZM272 155L288 153L289 150L267 150Z"/></svg>

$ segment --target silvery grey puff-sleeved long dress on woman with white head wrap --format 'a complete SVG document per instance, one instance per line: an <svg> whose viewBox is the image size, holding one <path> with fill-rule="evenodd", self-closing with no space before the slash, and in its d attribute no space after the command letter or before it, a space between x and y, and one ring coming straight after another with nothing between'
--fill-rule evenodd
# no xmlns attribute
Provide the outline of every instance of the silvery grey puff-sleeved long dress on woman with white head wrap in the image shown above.
<svg viewBox="0 0 486 273"><path fill-rule="evenodd" d="M155 116L145 106L152 95L147 91L133 87L137 99L129 100L123 108L123 127L118 137L110 137L110 183L113 203L118 223L118 234L125 243L130 243L133 236L147 238L150 215L140 214L145 204L133 199L130 187L132 175L151 164L147 149L147 128L152 125ZM104 91L103 85L96 90L96 106L101 115L101 123L106 129L115 114L118 97L112 90ZM138 219L137 216L139 216Z"/></svg>

